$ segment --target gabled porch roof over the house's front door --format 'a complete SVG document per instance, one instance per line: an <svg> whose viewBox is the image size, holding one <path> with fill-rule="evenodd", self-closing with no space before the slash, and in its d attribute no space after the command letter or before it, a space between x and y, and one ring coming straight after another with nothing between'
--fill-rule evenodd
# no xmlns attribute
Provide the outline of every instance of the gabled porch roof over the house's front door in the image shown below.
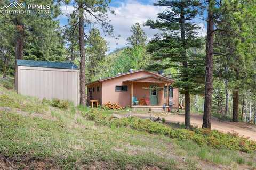
<svg viewBox="0 0 256 170"><path fill-rule="evenodd" d="M134 81L138 81L138 82L152 82L153 81L153 80L150 81L148 78L153 78L154 80L157 80L157 82L155 82L155 83L172 83L173 82L172 80L169 80L167 78L158 77L158 76L155 76L155 75L147 75L147 76L140 77L140 78L125 80L123 82L134 82Z"/></svg>

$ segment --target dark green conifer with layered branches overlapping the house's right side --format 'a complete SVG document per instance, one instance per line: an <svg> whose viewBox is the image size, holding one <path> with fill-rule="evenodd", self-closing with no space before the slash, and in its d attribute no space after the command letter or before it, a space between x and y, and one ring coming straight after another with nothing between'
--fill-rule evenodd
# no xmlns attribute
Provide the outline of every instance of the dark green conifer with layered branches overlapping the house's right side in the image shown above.
<svg viewBox="0 0 256 170"><path fill-rule="evenodd" d="M188 128L190 94L201 91L204 82L204 59L196 51L196 48L202 47L202 40L197 37L196 30L199 27L193 22L193 19L201 13L203 6L198 0L158 1L154 5L166 6L167 9L158 14L156 21L146 22L151 29L159 29L163 32L148 45L153 60L156 61L150 69L176 67L179 70L178 81L174 86L181 88L181 92L185 94L185 126ZM188 49L191 48L194 49L194 53L188 53Z"/></svg>

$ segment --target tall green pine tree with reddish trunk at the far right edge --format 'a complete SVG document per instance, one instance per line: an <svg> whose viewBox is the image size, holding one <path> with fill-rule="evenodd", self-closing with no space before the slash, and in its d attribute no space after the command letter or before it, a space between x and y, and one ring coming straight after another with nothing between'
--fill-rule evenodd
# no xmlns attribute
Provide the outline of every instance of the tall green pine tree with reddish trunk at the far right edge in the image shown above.
<svg viewBox="0 0 256 170"><path fill-rule="evenodd" d="M239 91L250 89L253 82L255 47L250 42L255 38L255 3L224 1L222 8L225 12L217 22L214 53L221 59L222 77L233 89L232 120L238 122Z"/></svg>

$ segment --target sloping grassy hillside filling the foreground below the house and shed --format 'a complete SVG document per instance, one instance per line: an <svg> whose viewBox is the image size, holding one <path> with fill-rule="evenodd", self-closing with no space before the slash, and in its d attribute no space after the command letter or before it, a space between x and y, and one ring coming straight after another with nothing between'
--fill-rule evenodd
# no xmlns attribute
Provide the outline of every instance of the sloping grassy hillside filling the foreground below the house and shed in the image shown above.
<svg viewBox="0 0 256 170"><path fill-rule="evenodd" d="M189 131L139 119L111 119L112 113L22 96L12 90L10 79L1 79L0 169L256 167L252 149L250 153L214 149L179 135L170 138L165 130ZM152 128L156 130L148 130Z"/></svg>

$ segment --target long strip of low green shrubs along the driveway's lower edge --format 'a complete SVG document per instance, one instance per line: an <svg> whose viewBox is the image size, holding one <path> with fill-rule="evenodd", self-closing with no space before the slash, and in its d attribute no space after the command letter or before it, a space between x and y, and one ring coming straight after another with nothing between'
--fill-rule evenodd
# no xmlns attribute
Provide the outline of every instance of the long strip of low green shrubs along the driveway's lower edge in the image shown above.
<svg viewBox="0 0 256 170"><path fill-rule="evenodd" d="M239 150L242 152L252 152L256 150L256 142L245 137L239 137L234 133L222 133L217 130L202 128L192 129L174 129L165 124L153 122L151 120L142 120L136 117L121 119L111 119L104 115L99 109L90 109L83 116L99 124L107 126L128 127L138 131L152 134L166 135L178 140L191 140L198 145L207 145L215 149L226 148L230 150Z"/></svg>

